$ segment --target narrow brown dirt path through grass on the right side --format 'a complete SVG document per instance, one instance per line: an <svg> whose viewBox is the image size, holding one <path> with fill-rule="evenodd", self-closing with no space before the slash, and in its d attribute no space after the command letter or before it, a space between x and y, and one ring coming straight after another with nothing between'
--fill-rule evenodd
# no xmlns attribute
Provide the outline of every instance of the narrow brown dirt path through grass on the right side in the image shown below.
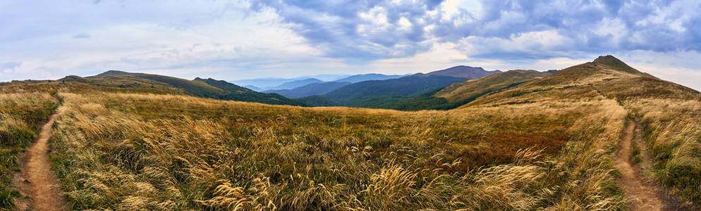
<svg viewBox="0 0 701 211"><path fill-rule="evenodd" d="M632 201L628 210L677 210L678 205L672 203L664 196L659 188L654 184L645 182L640 172L640 167L633 164L631 157L633 156L632 143L635 134L637 123L633 120L628 120L626 129L623 130L621 136L621 148L616 157L616 167L621 171L621 181L619 186L626 191ZM638 143L640 148L644 148ZM649 160L647 160L649 162Z"/></svg>

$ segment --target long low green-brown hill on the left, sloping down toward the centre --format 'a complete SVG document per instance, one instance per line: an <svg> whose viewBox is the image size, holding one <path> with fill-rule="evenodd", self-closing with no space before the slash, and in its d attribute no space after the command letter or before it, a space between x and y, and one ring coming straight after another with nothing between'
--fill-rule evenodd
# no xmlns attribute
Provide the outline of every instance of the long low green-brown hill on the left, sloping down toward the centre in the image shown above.
<svg viewBox="0 0 701 211"><path fill-rule="evenodd" d="M306 106L305 103L286 98L279 94L266 94L252 91L215 79L194 80L152 75L135 72L109 70L90 77L68 76L60 79L63 82L81 82L95 85L101 89L126 89L135 92L188 94L220 100L246 101L276 105Z"/></svg>

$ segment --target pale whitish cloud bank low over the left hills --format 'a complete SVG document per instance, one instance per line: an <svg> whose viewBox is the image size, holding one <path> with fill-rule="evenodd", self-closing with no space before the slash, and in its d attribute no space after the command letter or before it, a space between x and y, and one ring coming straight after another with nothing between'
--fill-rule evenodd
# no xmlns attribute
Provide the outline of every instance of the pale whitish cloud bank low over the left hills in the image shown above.
<svg viewBox="0 0 701 211"><path fill-rule="evenodd" d="M90 34L90 37L73 39L75 34ZM169 75L189 76L197 72L246 68L237 67L241 64L251 68L321 55L321 51L280 23L273 11L244 15L243 8L223 11L202 25L175 27L160 22L111 23L80 28L80 32L67 30L11 40L0 45L0 52L4 52L0 53L0 62L20 61L23 64L12 74L0 75L2 80L56 79L108 69L173 70ZM221 68L212 60L241 62L226 63L223 65L228 67Z"/></svg>

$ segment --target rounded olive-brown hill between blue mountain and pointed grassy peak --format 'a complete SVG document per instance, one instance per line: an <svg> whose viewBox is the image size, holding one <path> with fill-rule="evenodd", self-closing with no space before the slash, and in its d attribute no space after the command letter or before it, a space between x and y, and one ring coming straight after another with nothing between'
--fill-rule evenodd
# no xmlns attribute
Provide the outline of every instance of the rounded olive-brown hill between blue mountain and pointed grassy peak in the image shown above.
<svg viewBox="0 0 701 211"><path fill-rule="evenodd" d="M448 110L470 103L476 98L488 94L498 93L518 84L540 79L551 75L549 72L535 70L509 70L497 72L479 79L470 79L465 82L451 84L444 89L429 91L426 94L403 99L387 105L386 107L397 110Z"/></svg>

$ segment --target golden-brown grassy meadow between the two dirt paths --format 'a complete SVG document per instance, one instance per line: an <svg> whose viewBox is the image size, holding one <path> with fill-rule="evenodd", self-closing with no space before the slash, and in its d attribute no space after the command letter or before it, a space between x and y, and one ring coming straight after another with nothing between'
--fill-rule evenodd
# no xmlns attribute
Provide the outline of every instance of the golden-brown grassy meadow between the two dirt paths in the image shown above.
<svg viewBox="0 0 701 211"><path fill-rule="evenodd" d="M73 209L617 210L626 111L560 101L400 112L61 92Z"/></svg>

